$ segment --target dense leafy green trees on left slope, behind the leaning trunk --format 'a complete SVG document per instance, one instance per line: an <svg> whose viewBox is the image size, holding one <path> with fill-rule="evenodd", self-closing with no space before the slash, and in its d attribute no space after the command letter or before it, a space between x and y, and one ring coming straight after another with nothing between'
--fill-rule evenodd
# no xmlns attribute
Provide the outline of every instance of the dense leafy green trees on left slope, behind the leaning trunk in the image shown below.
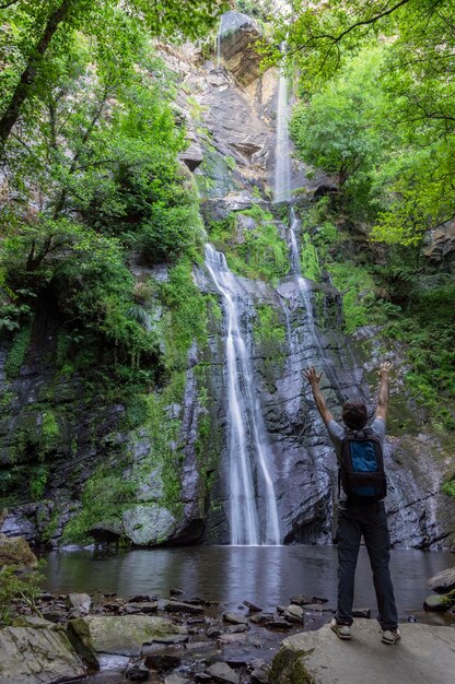
<svg viewBox="0 0 455 684"><path fill-rule="evenodd" d="M21 22L43 26L50 5L40 4L39 19L31 7L24 9L21 31ZM0 327L14 331L26 321L33 298L38 304L57 292L57 314L65 321L58 367L70 375L101 361L125 375L128 367L139 373L160 366L151 311L137 300L129 253L139 251L149 264L175 264L196 259L201 247L196 190L177 160L186 142L174 119L174 76L140 30L159 11L159 31L171 31L166 17L175 20L177 5L143 4L136 15L110 0L103 9L98 2L80 4L80 23L72 30L72 17L61 27L65 49L56 44L47 52L33 113L24 109L20 134L8 145L11 197L0 211L5 235ZM180 8L180 35L210 23L209 10L219 4L192 3L188 15L188 8ZM90 12L93 25L85 23ZM89 27L103 46L88 39ZM114 45L121 45L115 68ZM37 196L39 211L30 213ZM18 342L11 374L19 369L19 351Z"/></svg>

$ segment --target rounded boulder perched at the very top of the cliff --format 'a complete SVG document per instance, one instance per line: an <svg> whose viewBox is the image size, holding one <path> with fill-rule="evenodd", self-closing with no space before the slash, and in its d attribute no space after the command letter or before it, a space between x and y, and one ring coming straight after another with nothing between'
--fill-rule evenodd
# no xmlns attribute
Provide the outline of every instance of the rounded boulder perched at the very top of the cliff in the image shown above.
<svg viewBox="0 0 455 684"><path fill-rule="evenodd" d="M259 24L247 14L225 12L221 16L219 40L223 66L242 85L259 76L260 56L255 43L261 37Z"/></svg>

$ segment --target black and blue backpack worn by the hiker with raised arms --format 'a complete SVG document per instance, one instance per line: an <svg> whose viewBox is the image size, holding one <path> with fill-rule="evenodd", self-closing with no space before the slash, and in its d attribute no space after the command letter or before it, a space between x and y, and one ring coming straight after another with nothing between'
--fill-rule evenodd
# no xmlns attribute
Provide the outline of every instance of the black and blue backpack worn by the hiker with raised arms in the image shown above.
<svg viewBox="0 0 455 684"><path fill-rule="evenodd" d="M380 502L387 494L381 441L371 427L345 431L341 444L339 484L349 500Z"/></svg>

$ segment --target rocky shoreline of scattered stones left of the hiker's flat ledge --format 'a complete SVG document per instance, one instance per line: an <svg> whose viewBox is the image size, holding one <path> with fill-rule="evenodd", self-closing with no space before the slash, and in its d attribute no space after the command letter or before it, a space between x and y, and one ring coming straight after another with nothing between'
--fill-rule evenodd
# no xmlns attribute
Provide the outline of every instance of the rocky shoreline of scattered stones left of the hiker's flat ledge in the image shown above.
<svg viewBox="0 0 455 684"><path fill-rule="evenodd" d="M0 632L0 651L7 649L10 661L8 674L0 665L0 682L63 682L82 676L81 681L93 682L267 684L269 662L283 635L301 630L305 620L312 628L319 626L332 611L318 597L293 597L288 606L277 606L271 613L247 600L238 612L226 612L221 604L198 597L183 600L179 589L171 593L160 599L42 592L34 614L30 605L18 601L13 626ZM54 671L56 652L46 654L40 648L40 677L27 674L25 679L24 669L37 669L37 652L31 648L28 653L24 644L28 640L32 646L36 635L43 634L52 635L50 649L56 648L55 635L63 639L67 659L58 674ZM16 658L14 642L22 644ZM16 673L12 670L15 660L22 661ZM51 662L49 677L43 679Z"/></svg>

